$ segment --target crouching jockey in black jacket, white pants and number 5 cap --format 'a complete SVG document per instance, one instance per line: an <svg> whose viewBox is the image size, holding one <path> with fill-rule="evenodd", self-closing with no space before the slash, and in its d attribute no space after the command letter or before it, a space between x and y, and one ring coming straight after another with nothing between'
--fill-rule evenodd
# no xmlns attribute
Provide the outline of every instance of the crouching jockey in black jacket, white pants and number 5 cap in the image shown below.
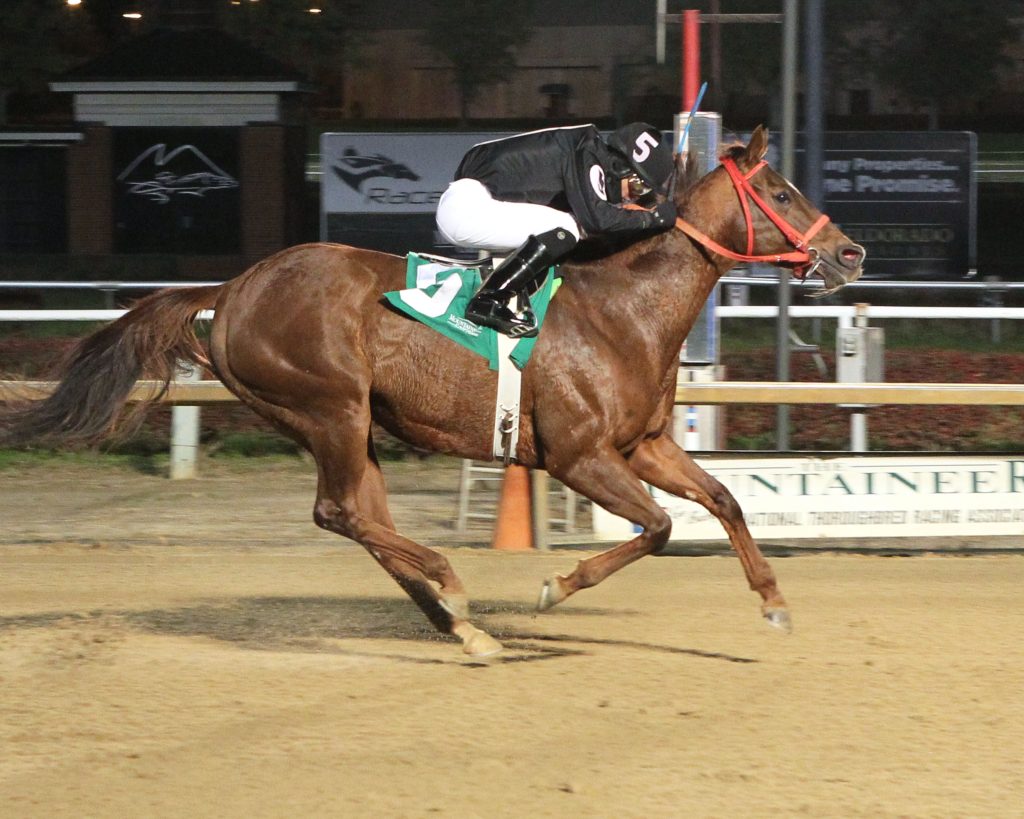
<svg viewBox="0 0 1024 819"><path fill-rule="evenodd" d="M483 282L466 317L513 338L536 336L526 298L548 268L586 236L666 230L676 208L622 206L664 191L675 163L671 143L646 123L601 139L593 125L548 128L469 149L440 198L437 227L449 242L508 256ZM508 306L513 296L519 314Z"/></svg>

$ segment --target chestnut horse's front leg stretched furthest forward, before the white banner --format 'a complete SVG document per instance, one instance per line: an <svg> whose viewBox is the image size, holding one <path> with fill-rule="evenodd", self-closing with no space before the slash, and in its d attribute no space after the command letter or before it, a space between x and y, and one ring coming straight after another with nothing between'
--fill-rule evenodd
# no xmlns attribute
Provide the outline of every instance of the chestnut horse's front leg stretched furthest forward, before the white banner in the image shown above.
<svg viewBox="0 0 1024 819"><path fill-rule="evenodd" d="M645 440L629 459L641 480L664 491L693 501L718 518L739 557L751 589L764 601L761 611L778 629L793 628L790 611L775 581L775 573L751 536L743 512L725 486L696 465L672 438Z"/></svg>

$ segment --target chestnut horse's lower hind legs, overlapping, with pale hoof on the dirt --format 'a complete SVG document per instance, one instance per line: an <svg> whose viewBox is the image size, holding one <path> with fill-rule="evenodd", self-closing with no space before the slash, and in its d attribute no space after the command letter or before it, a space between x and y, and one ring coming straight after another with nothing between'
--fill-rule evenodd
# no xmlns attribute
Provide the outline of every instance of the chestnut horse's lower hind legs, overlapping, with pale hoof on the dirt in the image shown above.
<svg viewBox="0 0 1024 819"><path fill-rule="evenodd" d="M465 590L447 559L394 530L384 476L369 438L369 422L366 434L355 451L354 446L340 443L337 428L326 442L313 443L319 470L313 519L318 526L366 548L434 628L462 640L467 654L497 653L501 643L469 621Z"/></svg>

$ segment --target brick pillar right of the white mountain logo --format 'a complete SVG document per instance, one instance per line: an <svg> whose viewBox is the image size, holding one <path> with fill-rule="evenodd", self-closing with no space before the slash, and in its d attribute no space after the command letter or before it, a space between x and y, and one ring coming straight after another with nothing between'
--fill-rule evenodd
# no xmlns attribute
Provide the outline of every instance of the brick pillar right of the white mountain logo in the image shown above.
<svg viewBox="0 0 1024 819"><path fill-rule="evenodd" d="M242 129L242 254L250 263L288 245L285 146L281 126Z"/></svg>

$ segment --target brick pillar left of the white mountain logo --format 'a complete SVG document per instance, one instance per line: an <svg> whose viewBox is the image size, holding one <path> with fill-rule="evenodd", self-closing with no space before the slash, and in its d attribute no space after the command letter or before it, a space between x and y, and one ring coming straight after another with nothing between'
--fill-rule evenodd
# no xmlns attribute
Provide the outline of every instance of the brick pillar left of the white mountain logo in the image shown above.
<svg viewBox="0 0 1024 819"><path fill-rule="evenodd" d="M108 254L114 249L113 132L83 128L85 139L68 147L68 251Z"/></svg>

